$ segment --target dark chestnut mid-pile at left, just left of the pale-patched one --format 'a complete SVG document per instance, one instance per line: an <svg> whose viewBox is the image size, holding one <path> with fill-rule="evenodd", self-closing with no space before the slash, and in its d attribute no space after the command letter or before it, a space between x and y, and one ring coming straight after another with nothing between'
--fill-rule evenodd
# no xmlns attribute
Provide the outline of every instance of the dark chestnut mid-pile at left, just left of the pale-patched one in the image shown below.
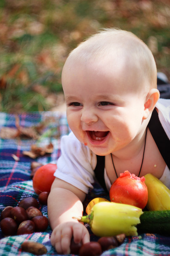
<svg viewBox="0 0 170 256"><path fill-rule="evenodd" d="M24 208L15 206L10 210L10 217L20 224L22 221L28 220L28 216Z"/></svg>

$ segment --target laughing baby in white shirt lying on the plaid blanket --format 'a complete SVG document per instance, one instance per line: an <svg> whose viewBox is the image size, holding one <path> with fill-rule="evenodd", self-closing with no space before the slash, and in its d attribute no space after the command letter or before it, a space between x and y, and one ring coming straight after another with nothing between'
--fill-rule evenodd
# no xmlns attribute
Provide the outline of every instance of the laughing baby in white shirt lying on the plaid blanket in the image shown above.
<svg viewBox="0 0 170 256"><path fill-rule="evenodd" d="M48 217L52 245L68 254L71 237L75 243L90 240L85 226L72 217L82 216L96 155L105 156L108 191L125 170L136 176L152 173L170 187L169 169L147 127L155 105L163 116L169 100L159 100L151 51L119 29L105 29L78 45L65 62L62 85L72 132L62 137Z"/></svg>

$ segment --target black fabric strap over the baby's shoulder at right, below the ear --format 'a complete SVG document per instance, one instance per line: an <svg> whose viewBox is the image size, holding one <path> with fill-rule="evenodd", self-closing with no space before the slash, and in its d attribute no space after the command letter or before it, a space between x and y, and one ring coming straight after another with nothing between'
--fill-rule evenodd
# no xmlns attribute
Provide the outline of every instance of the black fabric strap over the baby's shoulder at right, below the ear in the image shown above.
<svg viewBox="0 0 170 256"><path fill-rule="evenodd" d="M170 140L160 123L156 109L154 109L152 112L151 119L148 123L148 128L164 161L170 169Z"/></svg>

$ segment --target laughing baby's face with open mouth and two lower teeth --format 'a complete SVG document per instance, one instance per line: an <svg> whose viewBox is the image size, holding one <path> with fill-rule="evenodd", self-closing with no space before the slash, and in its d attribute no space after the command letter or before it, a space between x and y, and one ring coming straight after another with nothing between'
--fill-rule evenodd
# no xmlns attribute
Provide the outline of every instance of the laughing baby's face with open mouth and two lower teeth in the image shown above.
<svg viewBox="0 0 170 256"><path fill-rule="evenodd" d="M97 155L125 148L141 133L146 96L131 73L103 63L67 61L63 68L68 124Z"/></svg>

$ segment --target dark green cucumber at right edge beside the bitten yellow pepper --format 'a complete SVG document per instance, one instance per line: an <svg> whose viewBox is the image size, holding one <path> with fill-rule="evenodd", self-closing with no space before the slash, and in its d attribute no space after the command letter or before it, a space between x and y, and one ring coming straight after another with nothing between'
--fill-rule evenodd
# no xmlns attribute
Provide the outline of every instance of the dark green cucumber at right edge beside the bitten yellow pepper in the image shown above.
<svg viewBox="0 0 170 256"><path fill-rule="evenodd" d="M138 233L170 235L170 210L146 211L140 215Z"/></svg>

